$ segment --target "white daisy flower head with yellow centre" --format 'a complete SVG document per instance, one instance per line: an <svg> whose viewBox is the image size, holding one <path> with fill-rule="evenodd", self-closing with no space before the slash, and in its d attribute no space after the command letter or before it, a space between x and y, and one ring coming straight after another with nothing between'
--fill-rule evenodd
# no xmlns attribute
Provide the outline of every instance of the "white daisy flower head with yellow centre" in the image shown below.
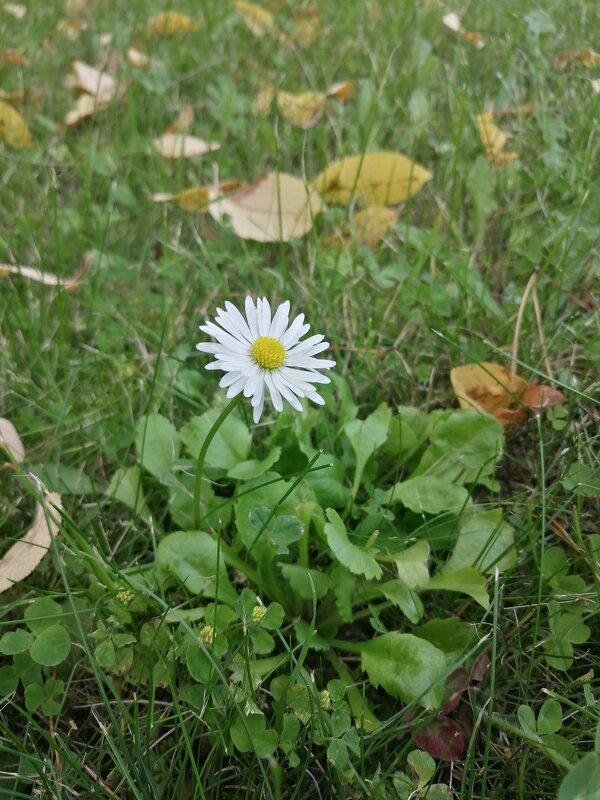
<svg viewBox="0 0 600 800"><path fill-rule="evenodd" d="M276 411L283 411L283 401L297 411L302 411L300 398L324 404L315 384L329 383L329 378L319 370L331 369L335 361L315 358L329 347L322 334L300 341L310 330L299 314L289 323L290 303L286 300L271 316L271 306L266 298L256 305L246 298L246 316L227 301L225 311L217 309L214 322L206 321L200 330L216 339L200 342L196 348L210 353L214 361L206 369L220 369L225 373L220 386L227 388L227 397L240 392L252 398L254 422L258 422L265 404L265 387Z"/></svg>

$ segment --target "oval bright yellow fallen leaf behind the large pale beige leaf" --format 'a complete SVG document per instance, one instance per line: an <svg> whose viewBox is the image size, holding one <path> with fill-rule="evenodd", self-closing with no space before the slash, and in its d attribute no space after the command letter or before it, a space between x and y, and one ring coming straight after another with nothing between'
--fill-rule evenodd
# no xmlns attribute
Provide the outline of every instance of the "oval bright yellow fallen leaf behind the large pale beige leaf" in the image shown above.
<svg viewBox="0 0 600 800"><path fill-rule="evenodd" d="M425 167L400 153L367 153L336 161L318 175L313 188L327 202L347 206L398 205L433 178Z"/></svg>

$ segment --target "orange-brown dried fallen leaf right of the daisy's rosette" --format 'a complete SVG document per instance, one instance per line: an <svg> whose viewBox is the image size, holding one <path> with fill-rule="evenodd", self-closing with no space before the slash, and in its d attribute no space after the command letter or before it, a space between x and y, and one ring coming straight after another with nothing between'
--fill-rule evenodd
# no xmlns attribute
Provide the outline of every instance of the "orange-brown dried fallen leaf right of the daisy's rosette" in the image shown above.
<svg viewBox="0 0 600 800"><path fill-rule="evenodd" d="M529 410L539 412L565 402L554 386L528 384L492 361L454 367L450 380L461 408L486 411L505 427L524 422Z"/></svg>

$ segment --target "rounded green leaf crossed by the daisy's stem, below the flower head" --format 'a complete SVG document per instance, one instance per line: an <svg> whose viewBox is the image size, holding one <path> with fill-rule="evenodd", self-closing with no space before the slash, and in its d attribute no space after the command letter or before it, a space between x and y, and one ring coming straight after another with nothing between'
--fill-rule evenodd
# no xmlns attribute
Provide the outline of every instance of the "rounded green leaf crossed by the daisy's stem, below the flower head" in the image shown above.
<svg viewBox="0 0 600 800"><path fill-rule="evenodd" d="M192 417L183 427L181 439L194 458L198 458L200 448L220 413L220 409L211 408L200 417ZM251 439L245 423L235 413L230 414L210 443L205 464L224 472L233 469L248 458Z"/></svg>

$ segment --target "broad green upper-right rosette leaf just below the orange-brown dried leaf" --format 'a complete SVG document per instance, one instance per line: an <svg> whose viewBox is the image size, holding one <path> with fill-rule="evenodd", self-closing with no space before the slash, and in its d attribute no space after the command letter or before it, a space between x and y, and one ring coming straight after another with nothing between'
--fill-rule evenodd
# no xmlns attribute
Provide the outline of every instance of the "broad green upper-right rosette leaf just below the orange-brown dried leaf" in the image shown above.
<svg viewBox="0 0 600 800"><path fill-rule="evenodd" d="M477 411L452 411L437 422L430 445L413 471L453 483L474 483L490 475L504 447L498 420Z"/></svg>

